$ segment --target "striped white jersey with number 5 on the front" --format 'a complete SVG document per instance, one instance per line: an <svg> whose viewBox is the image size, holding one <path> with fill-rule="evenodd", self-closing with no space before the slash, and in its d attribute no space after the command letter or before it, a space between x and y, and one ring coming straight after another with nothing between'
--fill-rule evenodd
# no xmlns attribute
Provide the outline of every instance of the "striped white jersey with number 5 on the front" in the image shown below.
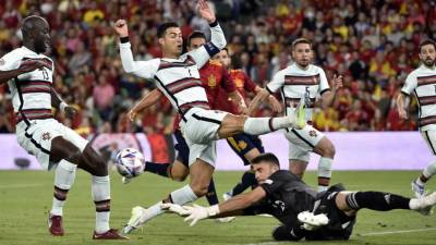
<svg viewBox="0 0 436 245"><path fill-rule="evenodd" d="M267 84L266 89L270 94L280 89L288 114L295 110L303 98L307 106L306 120L311 121L316 97L330 87L322 68L310 64L307 70L302 70L293 63L279 71Z"/></svg>

